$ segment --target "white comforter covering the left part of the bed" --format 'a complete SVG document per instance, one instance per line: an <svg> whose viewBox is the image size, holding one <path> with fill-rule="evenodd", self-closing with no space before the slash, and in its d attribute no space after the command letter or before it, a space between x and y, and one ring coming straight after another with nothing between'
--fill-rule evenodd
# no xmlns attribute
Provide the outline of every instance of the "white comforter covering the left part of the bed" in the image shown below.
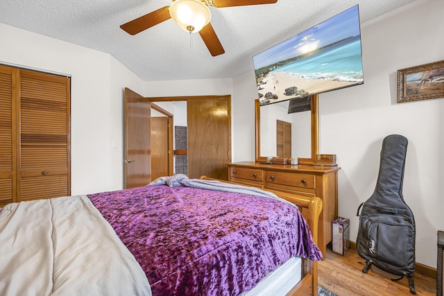
<svg viewBox="0 0 444 296"><path fill-rule="evenodd" d="M85 195L0 212L0 295L151 295L133 254Z"/></svg>

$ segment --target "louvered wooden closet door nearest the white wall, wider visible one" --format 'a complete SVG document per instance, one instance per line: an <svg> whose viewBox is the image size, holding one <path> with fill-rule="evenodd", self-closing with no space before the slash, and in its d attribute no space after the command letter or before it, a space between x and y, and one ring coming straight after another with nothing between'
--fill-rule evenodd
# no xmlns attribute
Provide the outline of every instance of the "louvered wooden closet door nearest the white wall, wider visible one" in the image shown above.
<svg viewBox="0 0 444 296"><path fill-rule="evenodd" d="M20 200L71 193L69 78L20 71Z"/></svg>

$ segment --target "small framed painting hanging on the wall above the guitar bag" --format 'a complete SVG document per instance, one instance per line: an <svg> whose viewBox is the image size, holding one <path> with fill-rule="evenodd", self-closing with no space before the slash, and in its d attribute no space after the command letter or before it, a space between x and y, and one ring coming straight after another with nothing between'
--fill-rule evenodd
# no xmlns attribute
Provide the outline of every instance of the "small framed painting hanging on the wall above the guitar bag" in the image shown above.
<svg viewBox="0 0 444 296"><path fill-rule="evenodd" d="M444 60L398 70L398 103L444 98Z"/></svg>

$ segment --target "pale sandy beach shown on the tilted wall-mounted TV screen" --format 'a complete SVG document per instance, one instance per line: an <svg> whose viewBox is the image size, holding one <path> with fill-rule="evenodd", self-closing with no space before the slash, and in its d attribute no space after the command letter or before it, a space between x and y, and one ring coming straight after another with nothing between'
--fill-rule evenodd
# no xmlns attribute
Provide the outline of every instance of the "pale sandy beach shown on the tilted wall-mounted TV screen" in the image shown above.
<svg viewBox="0 0 444 296"><path fill-rule="evenodd" d="M298 87L298 90L304 89L306 92L309 92L309 94L316 94L319 92L325 92L326 89L336 89L355 84L355 82L327 79L294 78L285 72L268 73L268 76L266 76L266 78L264 78L262 81L266 83L259 85L260 89L258 92L264 96L267 92L278 95L278 99L273 100L273 102L279 102L292 98L293 96L285 95L285 89L293 86ZM264 97L260 98L260 100L264 100Z"/></svg>

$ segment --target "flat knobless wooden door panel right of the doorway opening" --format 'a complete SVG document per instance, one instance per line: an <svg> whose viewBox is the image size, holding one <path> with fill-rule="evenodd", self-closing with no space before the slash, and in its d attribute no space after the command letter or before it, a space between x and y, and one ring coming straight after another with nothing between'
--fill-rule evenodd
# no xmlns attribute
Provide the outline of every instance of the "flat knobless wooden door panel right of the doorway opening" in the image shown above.
<svg viewBox="0 0 444 296"><path fill-rule="evenodd" d="M188 177L200 175L228 180L226 163L231 161L230 100L187 100Z"/></svg>

